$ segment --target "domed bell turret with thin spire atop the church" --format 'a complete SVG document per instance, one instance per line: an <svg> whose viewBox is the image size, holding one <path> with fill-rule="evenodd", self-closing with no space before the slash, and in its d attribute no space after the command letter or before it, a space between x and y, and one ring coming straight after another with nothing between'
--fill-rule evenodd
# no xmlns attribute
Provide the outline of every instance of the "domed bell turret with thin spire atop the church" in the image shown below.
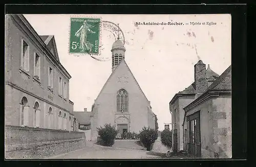
<svg viewBox="0 0 256 167"><path fill-rule="evenodd" d="M118 64L124 59L125 47L123 42L119 39L119 24L118 24L118 37L112 45L112 72L118 66Z"/></svg>

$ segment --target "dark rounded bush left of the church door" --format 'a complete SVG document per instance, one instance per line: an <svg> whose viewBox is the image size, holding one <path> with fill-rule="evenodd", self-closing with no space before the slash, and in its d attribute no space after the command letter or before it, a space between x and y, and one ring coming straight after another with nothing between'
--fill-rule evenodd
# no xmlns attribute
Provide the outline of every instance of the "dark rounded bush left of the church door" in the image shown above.
<svg viewBox="0 0 256 167"><path fill-rule="evenodd" d="M118 133L115 126L111 126L110 124L105 124L104 128L97 128L98 135L101 138L101 142L99 144L103 146L113 146L115 142L115 137Z"/></svg>

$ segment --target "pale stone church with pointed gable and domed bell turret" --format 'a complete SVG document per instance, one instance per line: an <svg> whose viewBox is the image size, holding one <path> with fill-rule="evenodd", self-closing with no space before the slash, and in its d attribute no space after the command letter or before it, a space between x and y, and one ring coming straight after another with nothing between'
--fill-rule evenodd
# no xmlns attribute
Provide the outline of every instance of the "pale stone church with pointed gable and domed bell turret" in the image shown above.
<svg viewBox="0 0 256 167"><path fill-rule="evenodd" d="M156 115L126 64L125 47L117 40L112 45L112 74L98 94L90 114L91 140L98 137L97 128L108 123L118 136L123 132L139 133L142 128L155 129Z"/></svg>

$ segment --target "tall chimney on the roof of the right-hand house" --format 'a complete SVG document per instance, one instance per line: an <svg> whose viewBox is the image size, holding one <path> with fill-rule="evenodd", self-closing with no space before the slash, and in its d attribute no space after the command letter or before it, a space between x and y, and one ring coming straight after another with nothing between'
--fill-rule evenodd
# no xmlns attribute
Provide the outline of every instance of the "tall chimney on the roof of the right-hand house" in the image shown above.
<svg viewBox="0 0 256 167"><path fill-rule="evenodd" d="M206 80L206 65L199 60L195 64L195 86L198 93L202 93L207 89L207 80Z"/></svg>

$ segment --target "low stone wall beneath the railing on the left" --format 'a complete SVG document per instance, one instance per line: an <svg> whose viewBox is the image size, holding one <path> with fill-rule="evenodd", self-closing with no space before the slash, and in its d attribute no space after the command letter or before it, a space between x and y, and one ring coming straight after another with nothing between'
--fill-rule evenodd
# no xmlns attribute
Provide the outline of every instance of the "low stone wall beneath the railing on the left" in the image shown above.
<svg viewBox="0 0 256 167"><path fill-rule="evenodd" d="M68 153L82 149L86 146L85 139L55 141L37 145L16 146L6 148L6 159L42 159L58 154ZM8 151L7 151L8 150ZM9 151L15 150L15 151Z"/></svg>

